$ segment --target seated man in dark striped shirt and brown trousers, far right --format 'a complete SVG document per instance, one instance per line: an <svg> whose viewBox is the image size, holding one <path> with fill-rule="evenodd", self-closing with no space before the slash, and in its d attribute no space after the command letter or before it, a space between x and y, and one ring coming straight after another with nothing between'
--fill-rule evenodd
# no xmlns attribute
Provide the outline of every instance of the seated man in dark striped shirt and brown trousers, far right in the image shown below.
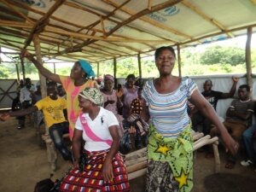
<svg viewBox="0 0 256 192"><path fill-rule="evenodd" d="M231 102L230 108L226 113L226 119L224 126L230 132L230 135L239 142L241 140L241 134L250 125L253 114L253 101L250 99L250 86L242 84L238 89L239 99L235 99ZM211 136L215 137L219 134L217 128L213 127ZM236 164L236 157L231 154L228 155L228 161L226 168L232 169Z"/></svg>

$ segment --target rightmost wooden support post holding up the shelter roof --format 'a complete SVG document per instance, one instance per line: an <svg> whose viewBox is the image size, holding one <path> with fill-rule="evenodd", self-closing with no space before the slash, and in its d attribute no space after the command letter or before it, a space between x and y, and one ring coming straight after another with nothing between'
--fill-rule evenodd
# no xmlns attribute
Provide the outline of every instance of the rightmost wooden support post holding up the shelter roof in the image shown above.
<svg viewBox="0 0 256 192"><path fill-rule="evenodd" d="M247 28L247 44L246 44L246 65L247 65L247 84L253 87L252 78L252 58L251 58L251 40L252 40L253 28L250 26Z"/></svg>

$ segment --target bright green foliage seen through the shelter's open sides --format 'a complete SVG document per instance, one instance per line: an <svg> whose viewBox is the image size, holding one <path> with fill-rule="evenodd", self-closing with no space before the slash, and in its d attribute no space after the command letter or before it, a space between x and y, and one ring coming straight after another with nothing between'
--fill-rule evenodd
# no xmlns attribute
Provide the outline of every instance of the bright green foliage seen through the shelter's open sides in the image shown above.
<svg viewBox="0 0 256 192"><path fill-rule="evenodd" d="M196 76L206 74L224 74L224 73L246 73L245 65L245 51L237 47L220 47L214 46L198 51L193 47L181 50L182 56L182 75ZM17 63L22 73L20 61L15 61L14 64L0 63L0 79L16 79ZM142 58L142 73L143 78L155 78L159 76L158 70L155 67L154 56ZM71 67L59 67L61 63L56 64L56 73L61 75L69 75ZM44 64L51 72L54 72L52 64ZM96 64L92 64L93 70L97 73ZM256 49L252 49L252 68L253 73L256 73ZM26 77L31 79L38 79L38 70L32 63L25 61ZM128 74L134 73L139 75L137 57L125 57L117 59L117 78L125 78ZM113 60L103 61L100 63L99 74L96 76L103 76L104 74L113 74ZM173 74L178 75L178 66L175 65Z"/></svg>

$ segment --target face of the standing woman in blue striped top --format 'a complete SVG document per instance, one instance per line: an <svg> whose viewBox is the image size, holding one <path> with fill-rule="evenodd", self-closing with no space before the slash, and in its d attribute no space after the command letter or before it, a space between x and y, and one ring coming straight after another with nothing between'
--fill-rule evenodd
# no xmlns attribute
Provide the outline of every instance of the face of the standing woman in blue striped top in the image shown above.
<svg viewBox="0 0 256 192"><path fill-rule="evenodd" d="M155 60L160 75L170 75L175 64L175 57L169 49L163 49Z"/></svg>

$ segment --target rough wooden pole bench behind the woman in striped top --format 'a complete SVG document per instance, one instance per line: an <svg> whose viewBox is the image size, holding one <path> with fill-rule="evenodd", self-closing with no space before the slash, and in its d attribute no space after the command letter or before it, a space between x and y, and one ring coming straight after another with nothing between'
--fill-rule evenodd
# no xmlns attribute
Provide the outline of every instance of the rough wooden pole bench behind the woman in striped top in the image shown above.
<svg viewBox="0 0 256 192"><path fill-rule="evenodd" d="M205 136L203 133L193 132L194 146L196 151L205 145L212 144L215 162L215 172L219 172L220 160L218 154L218 137ZM147 172L147 148L141 148L137 151L125 155L125 165L129 180L141 177Z"/></svg>

